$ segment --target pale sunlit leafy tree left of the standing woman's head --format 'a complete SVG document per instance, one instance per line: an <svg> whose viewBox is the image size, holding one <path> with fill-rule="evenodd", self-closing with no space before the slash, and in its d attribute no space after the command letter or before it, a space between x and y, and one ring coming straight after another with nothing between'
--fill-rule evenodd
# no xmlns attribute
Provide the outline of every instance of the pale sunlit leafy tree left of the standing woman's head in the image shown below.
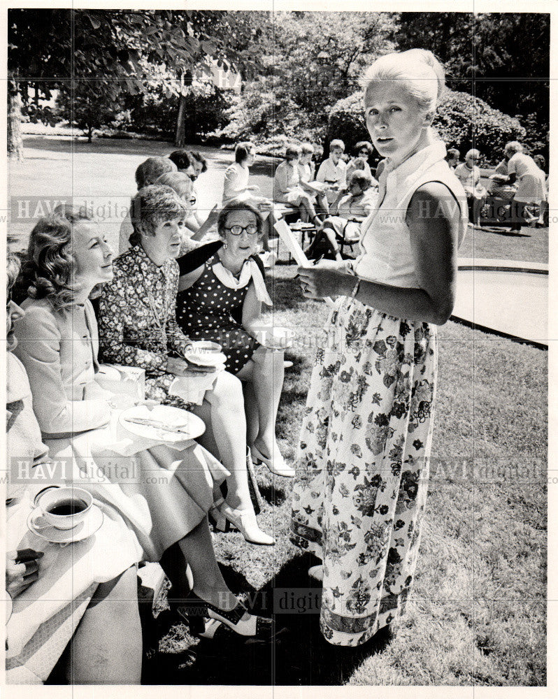
<svg viewBox="0 0 558 699"><path fill-rule="evenodd" d="M220 135L322 140L331 105L354 92L364 66L392 46L385 38L391 24L386 13L274 13L273 24L261 24L264 67Z"/></svg>

